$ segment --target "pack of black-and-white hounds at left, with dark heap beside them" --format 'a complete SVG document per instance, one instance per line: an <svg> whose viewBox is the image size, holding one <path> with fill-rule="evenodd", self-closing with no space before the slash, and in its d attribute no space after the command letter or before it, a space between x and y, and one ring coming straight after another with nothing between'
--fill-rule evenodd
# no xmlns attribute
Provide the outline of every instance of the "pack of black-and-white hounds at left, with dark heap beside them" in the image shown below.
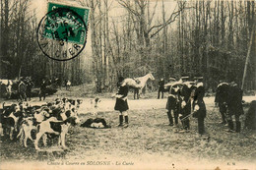
<svg viewBox="0 0 256 170"><path fill-rule="evenodd" d="M91 102L96 107L99 101L95 98ZM40 139L45 146L47 139L55 135L58 136L58 144L67 149L65 138L70 126L110 128L102 118L88 119L81 123L78 110L82 103L82 99L68 98L56 98L52 102L33 106L28 101L9 106L3 103L0 109L0 134L11 141L20 139L25 147L28 147L28 140L31 140L35 149L40 149Z"/></svg>

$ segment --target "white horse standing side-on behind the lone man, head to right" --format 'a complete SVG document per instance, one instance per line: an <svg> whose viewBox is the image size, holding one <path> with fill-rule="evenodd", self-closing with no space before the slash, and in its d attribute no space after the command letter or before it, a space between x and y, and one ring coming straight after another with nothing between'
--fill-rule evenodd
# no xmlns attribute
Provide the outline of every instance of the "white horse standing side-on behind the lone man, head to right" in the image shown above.
<svg viewBox="0 0 256 170"><path fill-rule="evenodd" d="M127 78L123 81L123 85L129 85L129 87L133 88L134 99L136 98L135 97L136 94L137 94L137 99L139 99L141 90L145 87L148 80L155 81L155 78L151 73L145 75L144 77L139 77L135 79Z"/></svg>

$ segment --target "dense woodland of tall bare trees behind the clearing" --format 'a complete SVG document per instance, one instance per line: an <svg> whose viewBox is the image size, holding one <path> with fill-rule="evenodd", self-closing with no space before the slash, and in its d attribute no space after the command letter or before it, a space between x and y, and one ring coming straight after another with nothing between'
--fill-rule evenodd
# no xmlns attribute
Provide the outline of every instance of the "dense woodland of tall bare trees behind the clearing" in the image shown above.
<svg viewBox="0 0 256 170"><path fill-rule="evenodd" d="M152 72L158 81L202 74L207 89L214 90L221 80L241 85L248 55L244 89L256 88L253 0L166 2L77 0L91 8L92 53L58 62L38 48L40 19L31 1L1 0L0 78L32 76L35 85L43 77L59 78L62 84L95 84L101 92L112 90L119 75L134 78ZM116 8L123 13L119 17L112 16Z"/></svg>

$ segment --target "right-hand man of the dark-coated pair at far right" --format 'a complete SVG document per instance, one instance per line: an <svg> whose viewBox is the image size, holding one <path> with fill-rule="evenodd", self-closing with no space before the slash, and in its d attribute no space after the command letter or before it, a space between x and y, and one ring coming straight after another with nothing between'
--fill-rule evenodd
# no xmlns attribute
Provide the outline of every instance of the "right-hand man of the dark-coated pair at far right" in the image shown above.
<svg viewBox="0 0 256 170"><path fill-rule="evenodd" d="M234 131L232 116L235 118L235 132L239 133L241 131L241 123L239 121L240 115L243 114L242 108L242 89L232 82L228 89L227 97L227 124L230 132Z"/></svg>

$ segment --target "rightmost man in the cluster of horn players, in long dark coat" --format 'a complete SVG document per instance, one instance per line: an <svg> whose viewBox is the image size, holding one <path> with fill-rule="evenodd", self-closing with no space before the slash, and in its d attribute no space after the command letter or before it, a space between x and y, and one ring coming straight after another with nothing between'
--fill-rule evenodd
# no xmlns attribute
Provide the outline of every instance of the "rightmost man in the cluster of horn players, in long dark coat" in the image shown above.
<svg viewBox="0 0 256 170"><path fill-rule="evenodd" d="M205 87L202 83L203 77L195 77L196 88L192 91L192 116L198 119L198 133L205 133L204 120L206 118L206 105L204 102Z"/></svg>

